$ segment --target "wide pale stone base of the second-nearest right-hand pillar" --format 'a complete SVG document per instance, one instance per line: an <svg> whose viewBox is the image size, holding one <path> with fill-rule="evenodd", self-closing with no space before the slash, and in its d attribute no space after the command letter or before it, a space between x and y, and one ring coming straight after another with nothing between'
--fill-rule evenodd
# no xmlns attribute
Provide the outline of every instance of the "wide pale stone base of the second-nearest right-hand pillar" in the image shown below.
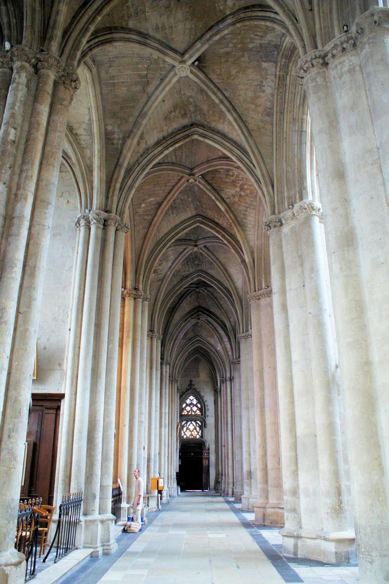
<svg viewBox="0 0 389 584"><path fill-rule="evenodd" d="M350 564L356 561L355 533L352 530L315 533L305 529L283 528L280 534L284 555L317 559L327 564Z"/></svg>

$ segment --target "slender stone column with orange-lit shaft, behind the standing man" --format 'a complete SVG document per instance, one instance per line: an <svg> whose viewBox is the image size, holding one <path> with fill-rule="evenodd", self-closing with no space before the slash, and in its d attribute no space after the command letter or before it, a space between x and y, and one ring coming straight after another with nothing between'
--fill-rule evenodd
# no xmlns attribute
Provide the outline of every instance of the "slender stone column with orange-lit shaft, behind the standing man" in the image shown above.
<svg viewBox="0 0 389 584"><path fill-rule="evenodd" d="M130 504L131 493L127 488L128 455L129 455L129 426L130 426L130 386L131 386L131 360L133 354L133 318L135 290L123 290L124 296L124 325L123 325L123 366L121 368L120 388L120 420L119 420L119 453L117 475L123 485L123 503L126 507ZM127 504L126 504L127 503Z"/></svg>

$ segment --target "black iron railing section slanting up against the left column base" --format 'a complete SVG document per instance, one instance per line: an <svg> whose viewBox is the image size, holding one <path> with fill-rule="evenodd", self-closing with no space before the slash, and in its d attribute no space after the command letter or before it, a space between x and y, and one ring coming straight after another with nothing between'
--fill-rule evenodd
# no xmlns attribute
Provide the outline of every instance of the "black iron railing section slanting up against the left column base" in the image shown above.
<svg viewBox="0 0 389 584"><path fill-rule="evenodd" d="M55 553L54 564L58 559L63 558L69 552L74 550L76 546L76 532L79 524L79 517L81 515L82 501L84 500L84 493L79 491L77 493L68 493L62 496L60 510L58 513L57 529L51 541L50 548L43 558L46 562L54 544L57 545Z"/></svg>

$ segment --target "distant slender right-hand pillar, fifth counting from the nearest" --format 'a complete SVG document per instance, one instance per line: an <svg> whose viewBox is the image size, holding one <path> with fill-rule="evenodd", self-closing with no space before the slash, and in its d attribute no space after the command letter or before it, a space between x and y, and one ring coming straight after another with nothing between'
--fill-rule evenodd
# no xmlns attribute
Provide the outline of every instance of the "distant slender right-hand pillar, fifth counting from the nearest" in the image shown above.
<svg viewBox="0 0 389 584"><path fill-rule="evenodd" d="M234 501L242 500L242 408L241 408L241 360L231 361L234 373L234 390L232 392L232 414L234 416Z"/></svg>

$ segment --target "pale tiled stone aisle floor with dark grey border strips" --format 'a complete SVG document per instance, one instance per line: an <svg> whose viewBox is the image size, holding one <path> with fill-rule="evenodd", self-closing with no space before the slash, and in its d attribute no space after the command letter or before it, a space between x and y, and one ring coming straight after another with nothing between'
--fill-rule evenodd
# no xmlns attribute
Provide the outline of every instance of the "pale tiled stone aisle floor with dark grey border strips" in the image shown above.
<svg viewBox="0 0 389 584"><path fill-rule="evenodd" d="M286 561L277 530L215 494L182 493L143 533L121 534L113 556L91 558L63 584L356 584L357 568ZM154 514L152 514L154 515ZM150 517L150 515L148 516Z"/></svg>

